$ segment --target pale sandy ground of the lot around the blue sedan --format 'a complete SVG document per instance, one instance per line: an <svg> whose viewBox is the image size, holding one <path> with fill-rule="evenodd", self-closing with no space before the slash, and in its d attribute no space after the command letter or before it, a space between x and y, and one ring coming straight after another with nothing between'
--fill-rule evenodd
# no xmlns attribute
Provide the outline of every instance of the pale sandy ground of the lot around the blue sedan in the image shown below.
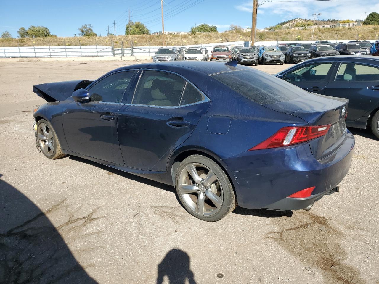
<svg viewBox="0 0 379 284"><path fill-rule="evenodd" d="M33 84L122 65L0 62L0 282L379 283L379 141L368 130L352 130L340 192L310 212L237 208L216 223L189 215L172 187L38 153Z"/></svg>

